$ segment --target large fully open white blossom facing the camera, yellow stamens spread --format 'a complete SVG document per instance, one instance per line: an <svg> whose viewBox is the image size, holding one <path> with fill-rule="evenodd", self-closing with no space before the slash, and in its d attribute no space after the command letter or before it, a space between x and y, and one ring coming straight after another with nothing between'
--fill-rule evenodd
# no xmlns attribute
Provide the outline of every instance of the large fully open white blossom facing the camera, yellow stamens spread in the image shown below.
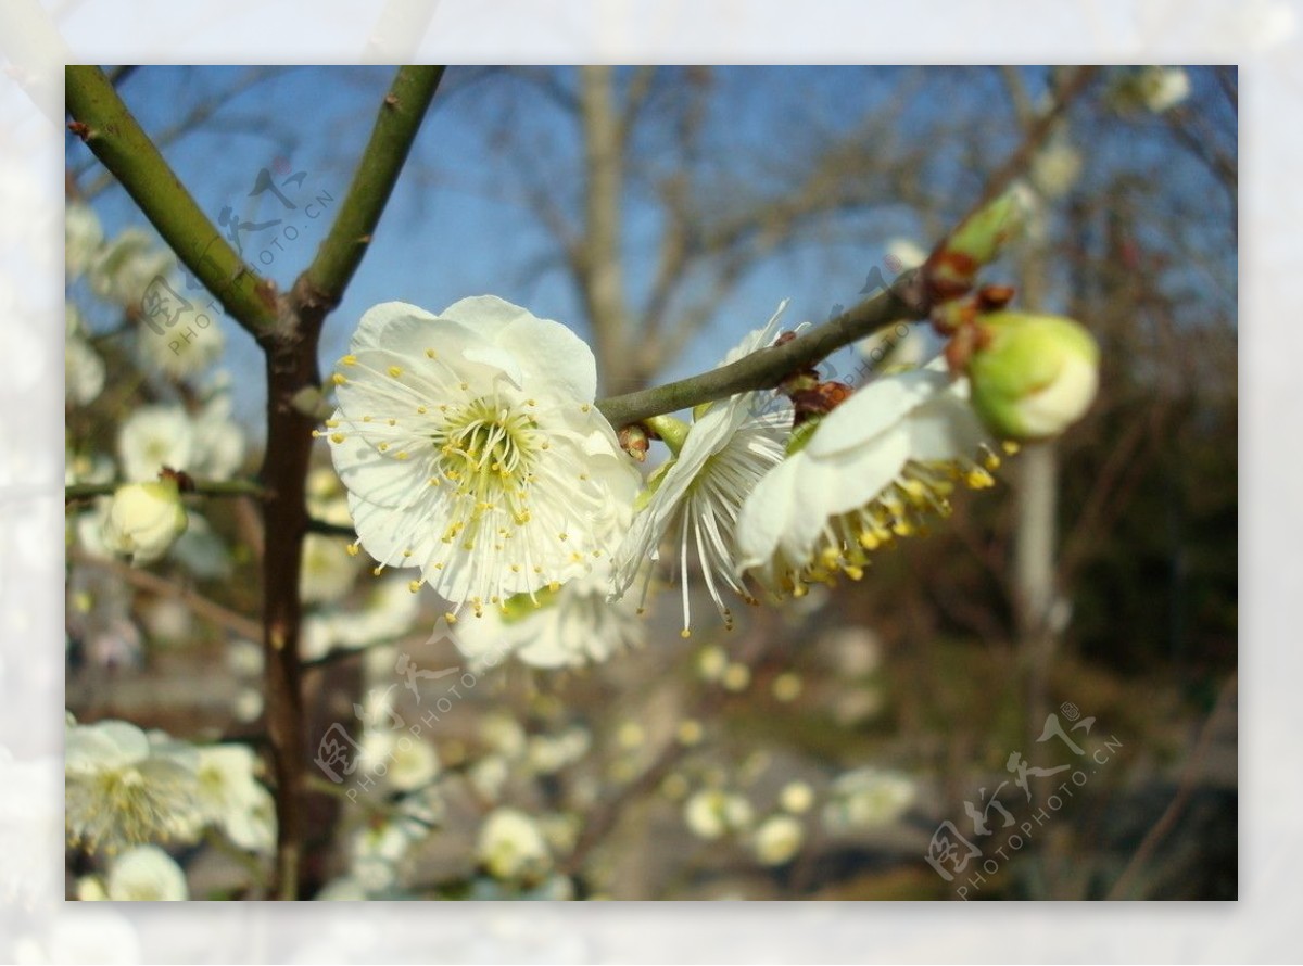
<svg viewBox="0 0 1303 966"><path fill-rule="evenodd" d="M431 315L370 309L335 374L326 436L382 566L451 601L503 607L610 552L594 523L637 473L593 407L593 354L568 328L485 296Z"/></svg>

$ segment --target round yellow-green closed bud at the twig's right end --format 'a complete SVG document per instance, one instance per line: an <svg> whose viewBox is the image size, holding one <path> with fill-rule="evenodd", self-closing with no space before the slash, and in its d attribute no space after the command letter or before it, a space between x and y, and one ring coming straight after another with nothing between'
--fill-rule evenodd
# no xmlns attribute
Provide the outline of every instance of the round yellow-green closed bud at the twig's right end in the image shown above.
<svg viewBox="0 0 1303 966"><path fill-rule="evenodd" d="M1057 436L1089 409L1100 381L1100 348L1059 315L992 312L977 320L968 359L972 405L1002 439Z"/></svg>

